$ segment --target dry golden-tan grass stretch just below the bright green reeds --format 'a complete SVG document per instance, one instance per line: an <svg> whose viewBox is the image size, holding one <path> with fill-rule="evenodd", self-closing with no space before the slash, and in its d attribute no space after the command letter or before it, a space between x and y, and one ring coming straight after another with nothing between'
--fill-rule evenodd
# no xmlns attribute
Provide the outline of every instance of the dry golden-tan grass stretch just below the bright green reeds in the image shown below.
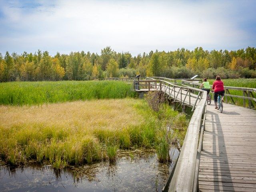
<svg viewBox="0 0 256 192"><path fill-rule="evenodd" d="M76 101L42 106L0 106L0 126L57 126L92 131L122 129L144 122L134 99Z"/></svg>

